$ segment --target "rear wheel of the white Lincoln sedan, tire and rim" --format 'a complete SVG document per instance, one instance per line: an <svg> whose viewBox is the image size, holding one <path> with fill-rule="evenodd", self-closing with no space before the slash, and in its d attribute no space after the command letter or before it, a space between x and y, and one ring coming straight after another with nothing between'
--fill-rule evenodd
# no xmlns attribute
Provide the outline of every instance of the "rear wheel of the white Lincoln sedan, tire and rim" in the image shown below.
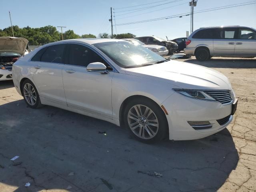
<svg viewBox="0 0 256 192"><path fill-rule="evenodd" d="M22 84L22 95L26 102L26 104L30 108L40 108L43 105L41 104L41 100L39 94L36 90L36 86L30 80L25 80Z"/></svg>

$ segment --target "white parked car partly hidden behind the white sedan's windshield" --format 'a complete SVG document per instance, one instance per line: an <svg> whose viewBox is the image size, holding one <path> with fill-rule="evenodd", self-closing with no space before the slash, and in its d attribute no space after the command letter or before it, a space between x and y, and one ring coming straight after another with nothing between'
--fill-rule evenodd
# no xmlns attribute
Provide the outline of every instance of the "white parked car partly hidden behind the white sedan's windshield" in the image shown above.
<svg viewBox="0 0 256 192"><path fill-rule="evenodd" d="M126 41L129 41L129 42L132 42L134 45L141 45L141 46L144 46L146 47L147 49L155 52L156 54L158 55L161 55L161 56L166 56L168 55L168 50L166 47L164 46L160 46L160 45L146 45L144 43L142 43L141 41L139 41L138 39L122 39L122 40L126 40Z"/></svg>

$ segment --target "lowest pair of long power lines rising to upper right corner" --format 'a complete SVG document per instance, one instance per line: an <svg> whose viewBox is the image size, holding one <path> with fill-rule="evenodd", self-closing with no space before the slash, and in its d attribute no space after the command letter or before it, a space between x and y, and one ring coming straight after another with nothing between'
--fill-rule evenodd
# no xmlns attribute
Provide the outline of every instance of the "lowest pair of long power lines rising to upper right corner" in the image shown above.
<svg viewBox="0 0 256 192"><path fill-rule="evenodd" d="M244 3L240 3L242 5L233 4L233 5L209 8L209 9L199 10L199 11L195 12L194 14L201 13L201 12L209 12L209 11L214 11L214 10L221 10L221 9L226 9L226 8L239 7L239 6L244 6L244 5L256 4L256 1L251 1L251 2L255 2L255 3L246 4L246 3L249 3L249 2L244 2ZM237 6L234 6L234 5L237 5ZM136 22L130 22L130 23L116 24L116 26L144 23L144 22L157 21L157 20L164 20L164 19L175 18L175 17L182 17L182 16L188 16L188 15L190 15L190 12L182 13L182 14L176 14L176 15L172 15L172 16L154 18L154 19L149 19L149 20L142 20L142 21L136 21Z"/></svg>

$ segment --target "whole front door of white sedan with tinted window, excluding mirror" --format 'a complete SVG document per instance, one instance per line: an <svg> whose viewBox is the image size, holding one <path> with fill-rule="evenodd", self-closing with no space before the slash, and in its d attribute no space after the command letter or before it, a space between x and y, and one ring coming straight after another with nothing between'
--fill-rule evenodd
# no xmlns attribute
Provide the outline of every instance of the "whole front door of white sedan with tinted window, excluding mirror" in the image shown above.
<svg viewBox="0 0 256 192"><path fill-rule="evenodd" d="M112 119L112 76L114 72L94 50L82 44L69 44L69 64L62 70L66 102L69 107ZM108 74L88 72L86 66L102 62Z"/></svg>

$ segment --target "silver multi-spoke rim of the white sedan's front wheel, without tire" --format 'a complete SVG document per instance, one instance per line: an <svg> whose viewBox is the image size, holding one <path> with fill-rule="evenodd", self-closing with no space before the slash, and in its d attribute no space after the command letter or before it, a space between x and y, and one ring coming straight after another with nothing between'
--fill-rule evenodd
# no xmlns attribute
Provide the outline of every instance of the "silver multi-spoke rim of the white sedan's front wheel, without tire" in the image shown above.
<svg viewBox="0 0 256 192"><path fill-rule="evenodd" d="M156 136L159 128L156 114L149 107L134 105L128 112L128 125L132 132L142 139Z"/></svg>

